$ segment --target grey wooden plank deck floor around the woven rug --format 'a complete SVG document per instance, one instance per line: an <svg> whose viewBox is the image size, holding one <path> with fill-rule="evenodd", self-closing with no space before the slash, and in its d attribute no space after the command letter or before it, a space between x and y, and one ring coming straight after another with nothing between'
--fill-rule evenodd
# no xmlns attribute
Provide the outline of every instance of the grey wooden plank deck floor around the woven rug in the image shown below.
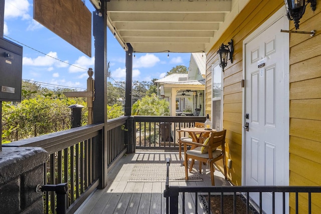
<svg viewBox="0 0 321 214"><path fill-rule="evenodd" d="M163 196L165 182L128 182L137 157L144 160L155 160L159 154L171 153L178 157L178 152L164 151L136 151L121 158L108 172L108 185L105 189L97 189L75 213L166 213L166 198ZM147 158L147 159L146 159ZM165 161L164 161L164 164ZM198 166L198 164L195 164ZM206 166L203 167L203 171ZM211 185L209 169L201 175L203 181L176 181L170 182L176 186L207 186ZM215 185L230 185L224 175L215 171ZM186 213L194 213L195 194L186 193ZM198 200L200 201L200 200ZM182 203L182 201L181 201ZM182 204L179 204L182 207ZM203 211L202 204L198 203L199 213Z"/></svg>

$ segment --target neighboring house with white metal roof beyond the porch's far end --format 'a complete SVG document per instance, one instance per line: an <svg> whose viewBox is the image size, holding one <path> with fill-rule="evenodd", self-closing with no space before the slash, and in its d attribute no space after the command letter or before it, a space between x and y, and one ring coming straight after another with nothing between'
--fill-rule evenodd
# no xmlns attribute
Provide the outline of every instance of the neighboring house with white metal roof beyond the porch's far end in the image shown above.
<svg viewBox="0 0 321 214"><path fill-rule="evenodd" d="M155 81L157 95L170 103L171 115L193 115L195 109L201 109L200 116L204 116L205 61L203 53L192 53L188 74L171 74Z"/></svg>

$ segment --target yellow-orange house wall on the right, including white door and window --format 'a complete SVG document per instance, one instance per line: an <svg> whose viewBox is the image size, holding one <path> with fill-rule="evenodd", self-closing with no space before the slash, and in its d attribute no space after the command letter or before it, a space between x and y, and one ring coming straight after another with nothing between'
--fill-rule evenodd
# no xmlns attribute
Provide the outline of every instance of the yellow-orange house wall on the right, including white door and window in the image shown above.
<svg viewBox="0 0 321 214"><path fill-rule="evenodd" d="M284 2L250 0L207 53L206 113L227 130L228 178L235 185L321 185L320 12L320 2L314 12L308 4L299 23L299 31L315 30L313 37L281 33L295 30ZM231 39L233 63L222 73L217 51ZM258 194L251 197L259 203ZM272 195L263 194L271 213L264 198ZM291 212L294 197L288 200ZM302 213L306 202L301 195ZM321 212L319 198L312 203Z"/></svg>

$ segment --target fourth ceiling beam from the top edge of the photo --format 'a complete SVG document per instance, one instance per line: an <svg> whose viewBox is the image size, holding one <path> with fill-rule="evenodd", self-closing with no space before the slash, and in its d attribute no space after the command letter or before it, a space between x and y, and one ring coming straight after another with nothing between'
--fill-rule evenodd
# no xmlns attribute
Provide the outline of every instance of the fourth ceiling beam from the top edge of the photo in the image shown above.
<svg viewBox="0 0 321 214"><path fill-rule="evenodd" d="M213 31L122 31L122 38L126 37L205 37L212 38Z"/></svg>

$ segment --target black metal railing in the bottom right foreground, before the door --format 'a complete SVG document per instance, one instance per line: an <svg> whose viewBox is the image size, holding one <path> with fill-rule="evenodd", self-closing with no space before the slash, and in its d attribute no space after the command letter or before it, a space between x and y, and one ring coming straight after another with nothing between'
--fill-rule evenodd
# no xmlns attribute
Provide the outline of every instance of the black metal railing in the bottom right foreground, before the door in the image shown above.
<svg viewBox="0 0 321 214"><path fill-rule="evenodd" d="M224 195L233 195L233 212L237 213L236 208L236 195L242 195L246 199L246 213L253 213L255 207L255 212L265 213L263 210L263 203L266 202L267 198L264 198L263 194L269 194L271 197L268 198L268 213L287 213L289 209L289 198L294 201L292 209L295 213L319 213L319 208L313 206L316 210L312 209L312 199L314 203L319 203L321 198L321 186L170 186L169 185L169 168L170 159L167 159L167 179L164 190L164 197L166 197L166 213L186 213L186 193L195 193L195 209L194 213L199 213L198 211L198 196L206 195L207 201L206 211L211 213L211 196L220 195L220 213L224 212ZM255 203L251 198L256 194L258 204ZM312 198L313 194L313 198ZM299 196L301 201L301 206L299 206ZM190 202L190 201L189 201ZM279 205L276 207L276 203ZM205 206L206 206L205 205ZM216 204L217 205L217 204ZM266 206L266 205L265 205ZM281 207L280 207L281 206ZM189 205L189 209L191 206ZM179 211L181 210L181 211ZM292 210L292 211L293 211ZM303 211L302 211L303 210ZM191 210L189 210L191 211Z"/></svg>

